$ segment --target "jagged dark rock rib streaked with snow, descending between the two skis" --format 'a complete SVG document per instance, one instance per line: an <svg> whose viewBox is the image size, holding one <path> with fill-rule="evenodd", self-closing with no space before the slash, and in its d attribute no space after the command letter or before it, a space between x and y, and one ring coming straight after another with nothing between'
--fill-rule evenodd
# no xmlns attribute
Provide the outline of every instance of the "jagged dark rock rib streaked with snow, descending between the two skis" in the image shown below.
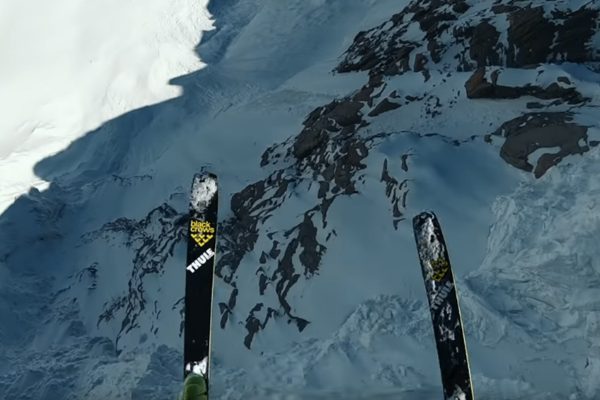
<svg viewBox="0 0 600 400"><path fill-rule="evenodd" d="M300 331L309 323L293 313L287 295L303 276L303 279L309 279L318 273L325 247L317 241L317 227L313 223L313 215L319 214L325 227L327 211L334 199L357 192L356 173L366 167L362 160L368 155L365 140L352 135L354 130L361 126L357 123L361 121L357 116L362 106L362 102L343 100L314 110L305 120L305 128L301 135L319 129L324 135L322 141L313 143L311 150L302 154L301 158L297 158L298 154L295 152L298 148L298 137L295 141L271 146L262 157L262 162L269 164L277 155L286 152L283 158L294 163L294 173L290 174L286 168L280 169L267 179L247 186L232 197L231 209L235 218L223 222L219 227L222 240L218 249L220 257L216 274L235 288L235 273L242 258L249 251L258 250L255 246L259 225L269 219L286 198L293 196L299 181L298 174L311 176L319 185L317 198L320 204L305 212L303 222L285 233L273 232L267 235L273 241L273 247L260 253L260 267L257 270L259 293L274 290L277 294L277 304L256 304L248 314L245 324L248 334L244 339L244 344L248 347L251 346L255 335L266 328L271 318L285 317ZM334 132L337 131L337 135L328 131L330 124L326 123L326 120L334 121ZM282 251L279 250L279 243L282 244ZM299 265L292 262L296 257L300 260ZM235 296L237 289L234 289L230 299ZM230 303L219 305L222 327L226 326L232 315L235 301ZM258 307L259 305L261 307ZM278 309L283 311L275 311ZM261 310L266 310L266 314Z"/></svg>

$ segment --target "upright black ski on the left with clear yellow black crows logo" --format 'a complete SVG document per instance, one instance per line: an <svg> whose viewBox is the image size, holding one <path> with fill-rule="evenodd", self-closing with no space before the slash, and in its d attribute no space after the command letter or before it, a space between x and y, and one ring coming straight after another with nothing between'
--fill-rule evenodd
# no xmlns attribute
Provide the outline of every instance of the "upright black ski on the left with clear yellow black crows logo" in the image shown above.
<svg viewBox="0 0 600 400"><path fill-rule="evenodd" d="M213 273L217 243L217 177L196 174L190 195L185 268L184 378L209 381ZM208 387L208 385L207 385Z"/></svg>

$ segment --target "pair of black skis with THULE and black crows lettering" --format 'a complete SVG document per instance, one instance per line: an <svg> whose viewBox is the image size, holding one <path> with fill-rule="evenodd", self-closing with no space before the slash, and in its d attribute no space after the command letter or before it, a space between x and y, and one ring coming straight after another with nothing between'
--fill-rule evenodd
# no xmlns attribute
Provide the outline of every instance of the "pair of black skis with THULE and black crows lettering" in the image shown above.
<svg viewBox="0 0 600 400"><path fill-rule="evenodd" d="M213 174L192 182L186 263L184 378L195 373L208 391L218 184ZM473 400L467 348L446 243L435 214L413 220L437 346L445 400ZM207 393L208 397L208 393Z"/></svg>

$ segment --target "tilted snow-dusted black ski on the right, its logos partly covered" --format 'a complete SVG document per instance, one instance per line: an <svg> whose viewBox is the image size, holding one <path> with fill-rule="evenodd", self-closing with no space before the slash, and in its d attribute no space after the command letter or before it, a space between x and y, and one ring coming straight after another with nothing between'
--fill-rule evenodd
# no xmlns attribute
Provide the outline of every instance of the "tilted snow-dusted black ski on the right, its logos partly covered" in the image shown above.
<svg viewBox="0 0 600 400"><path fill-rule="evenodd" d="M467 346L446 242L437 217L424 212L413 219L415 239L446 400L473 400Z"/></svg>

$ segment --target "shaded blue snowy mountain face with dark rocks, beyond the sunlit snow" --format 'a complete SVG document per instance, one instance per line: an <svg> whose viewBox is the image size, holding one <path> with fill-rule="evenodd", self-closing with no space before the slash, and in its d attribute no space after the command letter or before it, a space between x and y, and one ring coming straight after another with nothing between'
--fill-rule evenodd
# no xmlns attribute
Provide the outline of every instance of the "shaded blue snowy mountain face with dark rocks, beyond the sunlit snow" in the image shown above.
<svg viewBox="0 0 600 400"><path fill-rule="evenodd" d="M199 171L221 199L211 397L441 398L423 209L476 398L600 397L597 2L194 10L181 95L71 129L0 216L0 398L175 398Z"/></svg>

